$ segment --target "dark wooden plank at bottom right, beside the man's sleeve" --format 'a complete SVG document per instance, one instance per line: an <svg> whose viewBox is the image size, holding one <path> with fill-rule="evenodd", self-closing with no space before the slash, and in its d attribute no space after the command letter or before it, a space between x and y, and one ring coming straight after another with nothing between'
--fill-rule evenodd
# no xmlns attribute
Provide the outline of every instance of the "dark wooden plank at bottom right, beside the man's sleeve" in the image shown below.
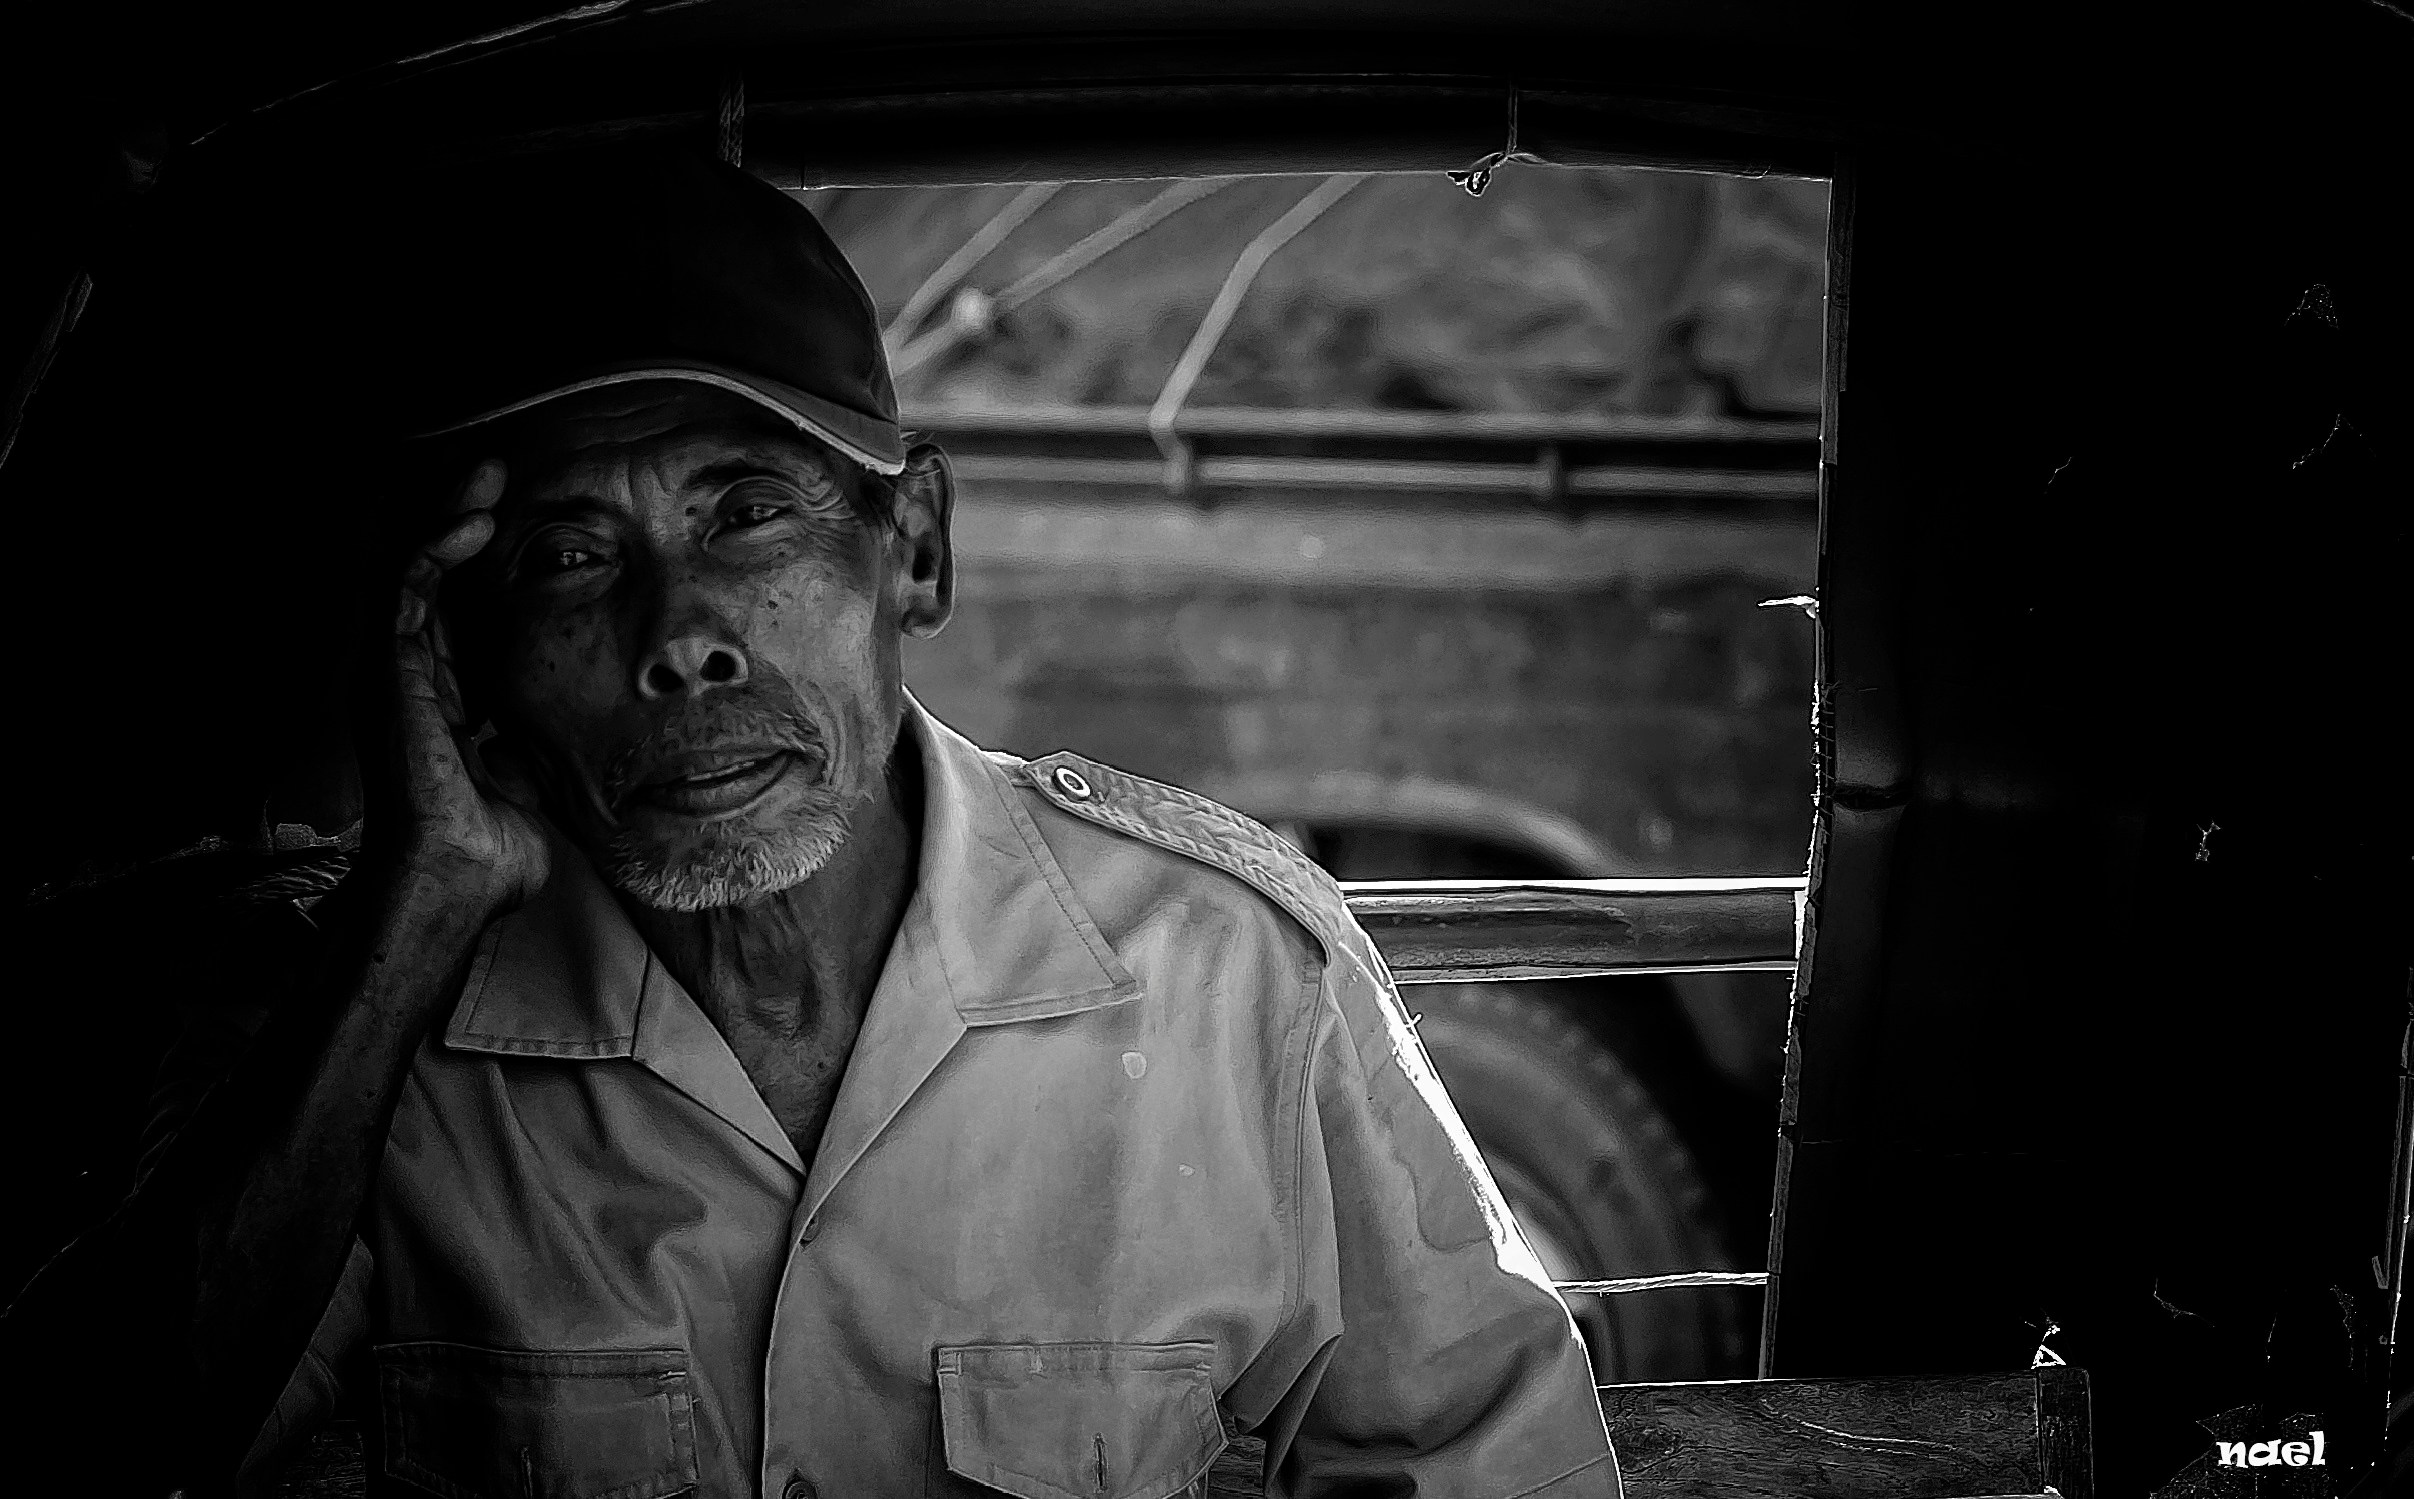
<svg viewBox="0 0 2414 1499"><path fill-rule="evenodd" d="M1627 1499L1960 1499L2047 1487L2028 1371L1603 1386L1600 1410Z"/></svg>

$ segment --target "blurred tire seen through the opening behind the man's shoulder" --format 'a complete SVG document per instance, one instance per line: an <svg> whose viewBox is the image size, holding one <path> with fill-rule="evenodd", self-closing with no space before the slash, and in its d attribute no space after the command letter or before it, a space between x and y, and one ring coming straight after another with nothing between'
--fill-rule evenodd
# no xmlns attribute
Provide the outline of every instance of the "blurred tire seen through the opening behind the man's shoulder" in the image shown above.
<svg viewBox="0 0 2414 1499"><path fill-rule="evenodd" d="M1726 1270L1692 1156L1634 1074L1535 982L1403 990L1458 1118L1552 1279ZM1750 1376L1750 1291L1567 1299L1598 1383Z"/></svg>

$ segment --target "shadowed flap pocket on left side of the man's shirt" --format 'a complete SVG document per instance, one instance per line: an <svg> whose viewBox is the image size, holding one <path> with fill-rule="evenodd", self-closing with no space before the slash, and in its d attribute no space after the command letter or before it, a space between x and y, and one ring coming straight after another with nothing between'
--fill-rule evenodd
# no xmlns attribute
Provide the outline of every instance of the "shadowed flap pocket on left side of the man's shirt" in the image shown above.
<svg viewBox="0 0 2414 1499"><path fill-rule="evenodd" d="M683 1349L377 1349L386 1477L444 1499L664 1499L695 1489Z"/></svg>

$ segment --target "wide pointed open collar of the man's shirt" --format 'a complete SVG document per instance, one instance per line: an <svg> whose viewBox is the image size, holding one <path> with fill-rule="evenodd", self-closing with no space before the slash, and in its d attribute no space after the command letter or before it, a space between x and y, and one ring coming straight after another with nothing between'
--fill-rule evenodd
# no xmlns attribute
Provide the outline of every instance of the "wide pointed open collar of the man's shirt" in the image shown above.
<svg viewBox="0 0 2414 1499"><path fill-rule="evenodd" d="M874 990L874 1011L954 1011L963 1026L1123 1004L1139 982L1098 934L990 756L905 698L922 758L922 842L912 900ZM891 999L893 997L893 999ZM492 922L444 1031L456 1050L630 1057L690 1033L695 1002L645 946L604 879L553 835L553 879ZM903 1016L898 1016L903 1019ZM867 1038L871 1036L867 1016Z"/></svg>

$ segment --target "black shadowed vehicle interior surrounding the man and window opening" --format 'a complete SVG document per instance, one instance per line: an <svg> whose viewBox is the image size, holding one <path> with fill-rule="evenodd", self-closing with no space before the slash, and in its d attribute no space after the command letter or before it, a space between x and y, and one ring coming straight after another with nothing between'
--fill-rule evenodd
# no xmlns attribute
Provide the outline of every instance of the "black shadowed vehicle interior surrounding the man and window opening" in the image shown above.
<svg viewBox="0 0 2414 1499"><path fill-rule="evenodd" d="M794 188L1798 174L1835 183L1818 777L1760 1378L1610 1386L1629 1492L2414 1472L2397 0L87 5L5 53L0 504L48 775L10 838L39 1077L0 1294L123 1190L142 1036L249 939L215 900L290 900L323 850L278 826L357 799L343 620L403 476L333 461L377 384L323 377L374 323L328 268L418 183L630 145ZM1813 1460L1716 1415L1762 1381L1909 1424ZM2006 1388L2030 1456L1919 1468ZM2216 1468L2281 1429L2327 1431L2288 1475L2327 1487Z"/></svg>

